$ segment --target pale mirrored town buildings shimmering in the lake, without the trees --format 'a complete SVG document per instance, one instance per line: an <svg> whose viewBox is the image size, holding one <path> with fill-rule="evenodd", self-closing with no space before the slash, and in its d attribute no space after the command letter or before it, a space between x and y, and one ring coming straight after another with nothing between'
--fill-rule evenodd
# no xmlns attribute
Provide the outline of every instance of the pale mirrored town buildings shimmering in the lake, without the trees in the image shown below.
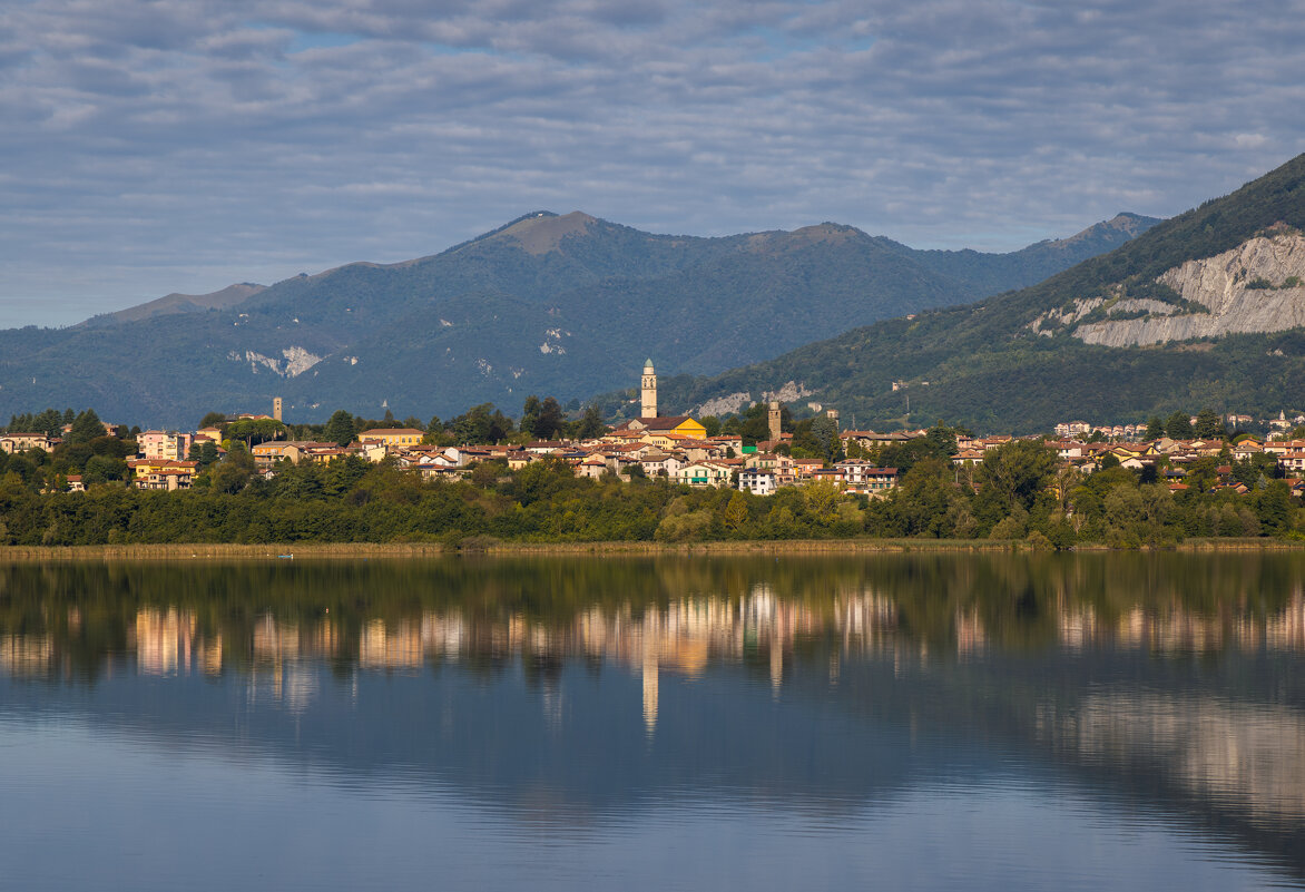
<svg viewBox="0 0 1305 892"><path fill-rule="evenodd" d="M666 606L626 603L617 610L590 607L569 623L543 622L525 613L485 618L461 610L425 610L411 618L351 618L359 628L346 632L345 622L278 619L271 611L258 616L252 635L232 641L222 631L202 629L188 607L142 606L128 629L125 650L134 654L136 670L145 675L205 673L236 667L260 677L284 671L300 661L346 661L360 670L414 670L427 662L529 657L573 657L615 661L639 671L659 667L697 675L713 661L740 661L761 653L770 661L770 679L783 683L784 663L795 643L821 639L846 656L893 652L903 658L928 661L940 648L912 639L899 623L898 605L873 590L840 593L818 607L800 599L776 597L766 584L756 584L737 598L697 597ZM81 611L68 610L65 628L76 632ZM350 623L352 624L352 623ZM949 649L966 658L990 646L992 635L976 609L950 618ZM1283 610L1261 615L1207 615L1171 606L1164 611L1135 605L1121 615L1104 618L1090 605L1060 605L1054 644L1062 650L1092 648L1148 652L1242 653L1305 652L1305 593L1297 590ZM50 632L0 633L0 671L10 675L48 675L59 667L60 646ZM112 654L120 656L120 654ZM106 666L112 665L106 656ZM833 669L837 674L837 669Z"/></svg>

